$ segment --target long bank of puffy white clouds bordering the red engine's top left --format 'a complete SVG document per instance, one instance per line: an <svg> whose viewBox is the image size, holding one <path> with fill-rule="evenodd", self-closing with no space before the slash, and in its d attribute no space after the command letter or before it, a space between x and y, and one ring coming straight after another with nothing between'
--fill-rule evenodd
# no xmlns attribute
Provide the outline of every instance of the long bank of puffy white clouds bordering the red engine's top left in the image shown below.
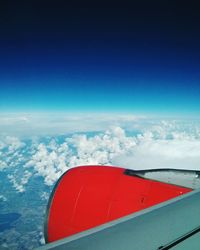
<svg viewBox="0 0 200 250"><path fill-rule="evenodd" d="M40 143L36 153L25 167L33 167L38 175L45 179L47 185L54 182L68 169L79 165L112 164L112 158L126 152L135 145L120 127L113 127L105 133L94 136L75 134L58 144L50 141Z"/></svg>

